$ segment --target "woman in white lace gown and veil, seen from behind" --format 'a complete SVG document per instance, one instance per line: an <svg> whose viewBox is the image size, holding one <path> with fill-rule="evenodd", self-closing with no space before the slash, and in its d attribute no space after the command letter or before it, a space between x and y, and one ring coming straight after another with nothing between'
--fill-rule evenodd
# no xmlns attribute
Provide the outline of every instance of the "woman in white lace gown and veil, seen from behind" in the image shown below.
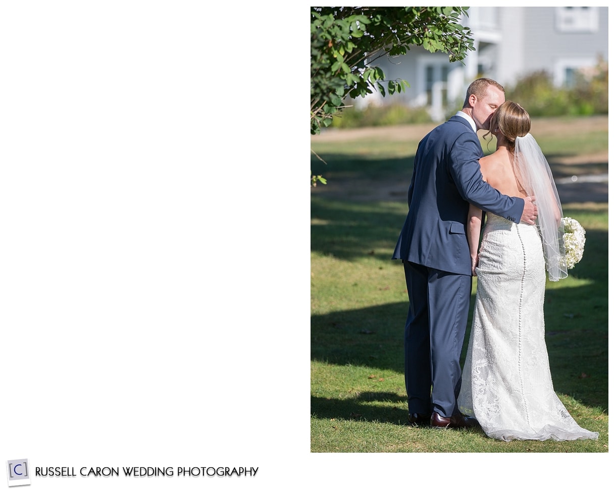
<svg viewBox="0 0 615 490"><path fill-rule="evenodd" d="M518 104L504 102L490 132L497 148L480 160L483 179L508 196L536 196L539 214L533 226L487 213L478 255L482 211L470 205L467 234L478 282L459 409L495 439L597 439L555 394L544 341L545 269L550 280L568 275L549 164L529 133L530 116Z"/></svg>

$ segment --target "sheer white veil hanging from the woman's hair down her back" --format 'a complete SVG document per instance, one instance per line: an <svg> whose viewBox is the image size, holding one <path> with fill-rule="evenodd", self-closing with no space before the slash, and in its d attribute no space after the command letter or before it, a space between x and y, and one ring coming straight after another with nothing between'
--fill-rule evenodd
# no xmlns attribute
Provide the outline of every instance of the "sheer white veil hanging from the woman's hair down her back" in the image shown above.
<svg viewBox="0 0 615 490"><path fill-rule="evenodd" d="M530 133L515 140L515 167L519 183L528 196L536 197L536 226L542 239L542 250L549 280L568 277L564 248L564 225L561 222L560 196L549 163Z"/></svg>

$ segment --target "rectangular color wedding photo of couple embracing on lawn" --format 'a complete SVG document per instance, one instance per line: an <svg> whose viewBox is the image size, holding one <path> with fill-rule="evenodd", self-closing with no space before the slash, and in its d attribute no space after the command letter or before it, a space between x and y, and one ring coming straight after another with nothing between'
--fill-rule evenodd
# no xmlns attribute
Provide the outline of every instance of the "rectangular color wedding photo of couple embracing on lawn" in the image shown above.
<svg viewBox="0 0 615 490"><path fill-rule="evenodd" d="M608 454L608 10L311 7L319 460Z"/></svg>

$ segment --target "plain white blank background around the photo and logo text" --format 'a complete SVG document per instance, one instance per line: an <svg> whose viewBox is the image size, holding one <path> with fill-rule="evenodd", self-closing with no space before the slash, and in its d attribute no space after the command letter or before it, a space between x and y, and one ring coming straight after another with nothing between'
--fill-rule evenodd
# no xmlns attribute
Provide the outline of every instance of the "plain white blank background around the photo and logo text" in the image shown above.
<svg viewBox="0 0 615 490"><path fill-rule="evenodd" d="M251 5L1 2L2 460L259 468L33 489L606 472L606 454L570 475L541 455L309 452L308 7Z"/></svg>

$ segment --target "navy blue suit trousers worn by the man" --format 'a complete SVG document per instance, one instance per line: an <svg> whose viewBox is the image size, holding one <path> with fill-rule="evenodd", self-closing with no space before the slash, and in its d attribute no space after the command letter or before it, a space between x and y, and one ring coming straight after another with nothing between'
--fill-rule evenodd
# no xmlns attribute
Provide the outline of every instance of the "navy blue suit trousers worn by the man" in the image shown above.
<svg viewBox="0 0 615 490"><path fill-rule="evenodd" d="M403 261L410 308L404 334L408 412L459 413L459 358L472 277Z"/></svg>

